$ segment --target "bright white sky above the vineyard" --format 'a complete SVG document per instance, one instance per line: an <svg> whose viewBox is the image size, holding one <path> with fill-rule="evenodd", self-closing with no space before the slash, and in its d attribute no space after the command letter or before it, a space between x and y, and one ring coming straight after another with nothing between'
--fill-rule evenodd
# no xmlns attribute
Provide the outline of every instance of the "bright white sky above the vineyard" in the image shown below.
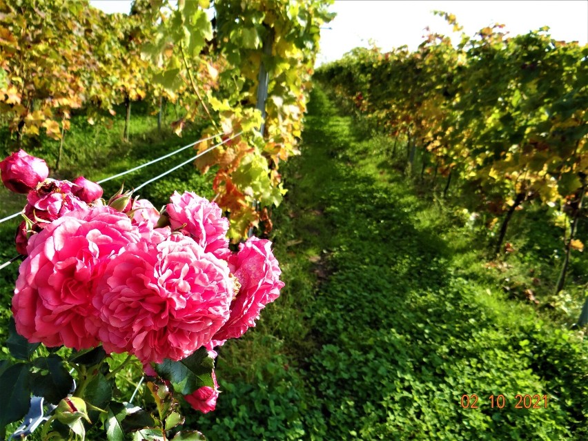
<svg viewBox="0 0 588 441"><path fill-rule="evenodd" d="M130 0L90 0L105 12L130 10ZM390 50L406 44L411 50L422 42L424 28L451 35L451 26L433 10L455 14L464 32L501 23L511 35L525 34L549 26L557 40L588 43L588 0L337 0L331 6L337 17L321 30L321 51L317 63L339 59L357 46L376 46ZM455 38L458 42L459 37Z"/></svg>

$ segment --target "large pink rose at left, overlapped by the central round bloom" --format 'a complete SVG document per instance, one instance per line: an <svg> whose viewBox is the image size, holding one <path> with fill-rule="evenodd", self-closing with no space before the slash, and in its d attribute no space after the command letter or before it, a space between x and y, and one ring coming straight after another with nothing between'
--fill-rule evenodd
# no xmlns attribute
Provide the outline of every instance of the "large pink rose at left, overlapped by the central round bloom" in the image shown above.
<svg viewBox="0 0 588 441"><path fill-rule="evenodd" d="M46 346L96 346L95 280L108 259L138 240L130 219L106 206L67 213L30 237L12 297L18 333Z"/></svg>

